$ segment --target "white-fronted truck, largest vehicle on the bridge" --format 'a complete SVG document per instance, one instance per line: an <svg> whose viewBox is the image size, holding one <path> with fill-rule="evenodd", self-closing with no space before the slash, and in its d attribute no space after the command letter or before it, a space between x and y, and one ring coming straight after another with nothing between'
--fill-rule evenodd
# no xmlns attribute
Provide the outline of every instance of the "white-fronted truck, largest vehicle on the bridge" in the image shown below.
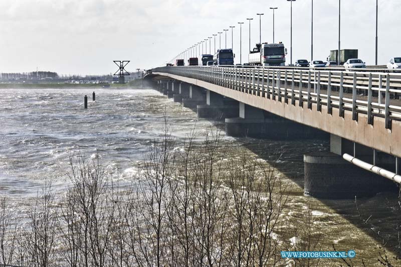
<svg viewBox="0 0 401 267"><path fill-rule="evenodd" d="M278 44L256 44L249 52L249 65L252 66L285 66L287 49L282 42Z"/></svg>

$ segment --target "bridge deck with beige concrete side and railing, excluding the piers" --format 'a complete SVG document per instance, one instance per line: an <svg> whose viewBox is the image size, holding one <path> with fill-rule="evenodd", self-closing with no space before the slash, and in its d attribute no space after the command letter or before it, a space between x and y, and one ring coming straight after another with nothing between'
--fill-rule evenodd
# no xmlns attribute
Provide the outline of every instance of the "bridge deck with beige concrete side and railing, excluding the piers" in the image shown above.
<svg viewBox="0 0 401 267"><path fill-rule="evenodd" d="M164 67L152 73L401 157L399 74L217 67Z"/></svg>

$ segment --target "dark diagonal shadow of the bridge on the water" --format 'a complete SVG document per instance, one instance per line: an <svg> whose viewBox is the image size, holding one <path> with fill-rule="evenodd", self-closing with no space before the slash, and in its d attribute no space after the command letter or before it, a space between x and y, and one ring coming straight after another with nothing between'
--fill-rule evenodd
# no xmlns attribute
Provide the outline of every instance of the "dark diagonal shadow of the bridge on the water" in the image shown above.
<svg viewBox="0 0 401 267"><path fill-rule="evenodd" d="M215 121L215 125L224 132L225 124ZM329 151L329 139L309 140L270 140L255 138L236 138L242 146L274 164L275 168L300 188L292 189L291 196L303 196L304 161L303 155L310 152ZM384 179L377 176L377 179ZM346 185L345 185L346 186ZM401 256L398 231L401 227L401 204L398 202L398 189L394 183L393 191L381 192L373 197L355 199L315 199L364 233L383 244L386 250ZM350 236L352 237L352 236ZM352 249L351 247L349 249ZM377 257L379 254L377 253Z"/></svg>

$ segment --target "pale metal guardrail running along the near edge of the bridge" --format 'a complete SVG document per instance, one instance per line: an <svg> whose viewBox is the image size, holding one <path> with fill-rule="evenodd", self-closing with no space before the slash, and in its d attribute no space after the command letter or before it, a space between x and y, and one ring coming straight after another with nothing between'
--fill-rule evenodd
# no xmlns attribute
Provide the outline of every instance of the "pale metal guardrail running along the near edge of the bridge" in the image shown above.
<svg viewBox="0 0 401 267"><path fill-rule="evenodd" d="M330 114L337 108L341 117L349 110L353 120L358 113L367 114L368 124L373 124L373 117L382 117L386 129L391 129L392 120L401 120L401 101L390 104L390 99L401 94L401 73L233 66L161 67L152 72L193 78L280 102L284 99L285 103L290 99L292 105L298 100L299 106L306 102L309 109L315 103L318 111L325 105Z"/></svg>

